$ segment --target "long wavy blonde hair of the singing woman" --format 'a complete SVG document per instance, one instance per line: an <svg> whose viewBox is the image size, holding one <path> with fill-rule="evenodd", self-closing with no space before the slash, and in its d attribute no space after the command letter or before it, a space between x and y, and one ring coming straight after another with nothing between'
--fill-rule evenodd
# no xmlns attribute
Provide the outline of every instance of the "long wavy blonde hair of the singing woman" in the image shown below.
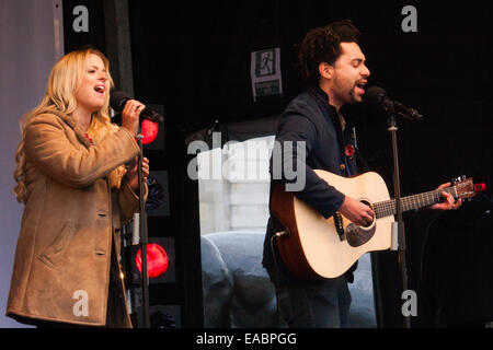
<svg viewBox="0 0 493 350"><path fill-rule="evenodd" d="M82 77L88 68L90 55L96 55L103 60L110 88L113 88L107 58L92 47L71 51L55 63L49 73L46 93L42 102L32 110L27 112L20 121L22 137L15 152L15 162L18 165L14 172L14 179L16 186L13 189L19 202L25 202L26 200L24 127L31 117L38 114L49 113L50 110L58 110L66 115L73 113L77 107L76 93L81 85ZM115 131L116 127L110 122L108 106L110 94L107 93L103 107L95 112L91 118L89 133L94 141L99 141Z"/></svg>

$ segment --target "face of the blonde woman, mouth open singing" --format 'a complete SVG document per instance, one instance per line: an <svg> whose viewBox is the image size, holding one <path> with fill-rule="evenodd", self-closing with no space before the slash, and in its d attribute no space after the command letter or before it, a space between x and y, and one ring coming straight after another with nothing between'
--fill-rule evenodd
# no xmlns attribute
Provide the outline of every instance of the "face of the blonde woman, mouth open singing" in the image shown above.
<svg viewBox="0 0 493 350"><path fill-rule="evenodd" d="M104 106L108 92L107 71L104 62L98 55L91 54L82 73L81 84L76 92L77 108L89 114L100 110Z"/></svg>

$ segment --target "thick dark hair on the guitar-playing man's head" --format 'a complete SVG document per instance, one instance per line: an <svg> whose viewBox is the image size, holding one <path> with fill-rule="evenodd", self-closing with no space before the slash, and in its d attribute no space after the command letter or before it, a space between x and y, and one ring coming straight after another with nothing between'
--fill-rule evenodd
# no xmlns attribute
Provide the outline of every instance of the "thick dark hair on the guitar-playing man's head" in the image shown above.
<svg viewBox="0 0 493 350"><path fill-rule="evenodd" d="M318 84L319 65L334 65L341 56L341 43L357 43L359 31L349 20L333 22L324 27L310 30L299 46L298 60L301 75L310 84Z"/></svg>

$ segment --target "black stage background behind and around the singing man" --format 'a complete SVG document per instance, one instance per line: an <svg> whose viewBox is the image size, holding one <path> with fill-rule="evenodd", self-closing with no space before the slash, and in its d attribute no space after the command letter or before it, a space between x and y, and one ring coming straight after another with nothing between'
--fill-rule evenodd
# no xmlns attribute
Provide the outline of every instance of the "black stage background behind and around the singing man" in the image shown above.
<svg viewBox="0 0 493 350"><path fill-rule="evenodd" d="M405 33L401 28L406 16L401 11L408 4L417 10L417 32ZM309 28L334 20L351 19L362 31L360 44L371 71L370 85L382 86L390 96L425 116L422 122L399 120L402 195L436 188L462 174L491 186L493 104L489 85L493 78L493 34L490 31L493 13L482 2L465 5L395 1L383 5L376 1L192 3L129 0L128 13L135 96L165 107L165 135L171 137L165 138L164 153L149 151L148 154L156 168L170 171L172 214L162 222L162 230L174 232L176 237L179 232L185 235L177 244L190 243L188 248L196 248L194 235L198 235L197 185L190 182L183 171L188 161L184 154L185 137L215 120L255 122L255 119L282 113L302 89L296 70L296 44ZM100 20L105 21L104 16ZM102 35L101 32L95 34L92 43L107 45ZM271 47L280 47L284 94L254 102L250 52ZM351 108L351 115L358 128L362 153L371 170L386 178L392 191L386 115L364 105ZM187 194L192 199L184 205L183 195ZM491 206L489 191L480 200L449 214L459 223L469 220L463 233L471 237L467 241L470 252L480 244L470 234L478 225L486 232L493 231L488 214ZM475 215L474 220L471 215ZM424 291L429 289L429 283L422 279L423 270L429 272L428 267L435 266L435 260L454 259L463 252L447 234L437 238L434 232L442 230L445 222L433 226L428 235L427 222L422 215L412 220L406 217L406 220L410 287L417 291L420 306L413 325L436 325L438 306L426 304L429 293ZM436 250L442 243L451 248ZM425 262L422 262L423 252L428 254ZM179 256L179 252L176 254ZM484 258L470 271L477 279L491 275L485 265L492 262L488 260L491 254ZM196 259L192 261L191 268L196 262ZM402 301L395 253L375 254L374 267L379 325L400 327ZM460 265L456 268L460 270ZM433 273L443 276L436 269ZM452 277L443 279L444 285L450 288L455 282ZM484 288L492 288L492 284ZM433 298L439 299L435 294ZM460 295L458 293L457 303L466 303ZM493 312L490 318L493 319ZM448 319L442 322L448 323ZM454 322L460 323L460 319Z"/></svg>

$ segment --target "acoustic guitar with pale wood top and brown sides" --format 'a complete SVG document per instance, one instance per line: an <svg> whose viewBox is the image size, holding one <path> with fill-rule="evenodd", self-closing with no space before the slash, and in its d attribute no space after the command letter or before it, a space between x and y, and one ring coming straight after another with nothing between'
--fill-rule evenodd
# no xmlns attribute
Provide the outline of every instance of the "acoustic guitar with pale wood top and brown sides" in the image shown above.
<svg viewBox="0 0 493 350"><path fill-rule="evenodd" d="M286 191L284 185L276 186L271 211L285 228L276 234L277 247L287 269L300 280L339 277L365 253L390 249L392 241L395 200L390 199L380 175L369 172L342 177L321 170L314 172L341 192L369 206L374 220L359 226L340 212L325 219L295 192ZM447 188L401 197L402 211L437 203L443 200L443 191L456 199L475 195L472 178L461 177Z"/></svg>

